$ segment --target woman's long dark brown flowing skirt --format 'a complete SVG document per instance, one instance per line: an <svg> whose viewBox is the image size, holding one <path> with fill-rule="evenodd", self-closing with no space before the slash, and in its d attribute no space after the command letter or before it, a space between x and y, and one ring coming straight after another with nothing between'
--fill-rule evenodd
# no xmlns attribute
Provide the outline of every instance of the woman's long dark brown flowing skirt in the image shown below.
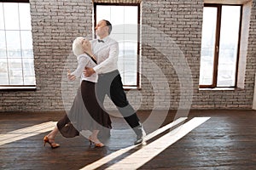
<svg viewBox="0 0 256 170"><path fill-rule="evenodd" d="M81 82L70 111L57 122L57 127L66 138L78 136L82 130L109 132L111 120L97 102L95 82Z"/></svg>

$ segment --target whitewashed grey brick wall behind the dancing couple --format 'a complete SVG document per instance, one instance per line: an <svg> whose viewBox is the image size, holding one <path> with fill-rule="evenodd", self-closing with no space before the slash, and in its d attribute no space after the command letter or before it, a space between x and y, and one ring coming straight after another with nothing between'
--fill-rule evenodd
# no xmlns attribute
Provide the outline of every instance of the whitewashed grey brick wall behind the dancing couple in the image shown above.
<svg viewBox="0 0 256 170"><path fill-rule="evenodd" d="M93 5L90 0L58 2L31 0L30 3L37 90L1 91L0 111L64 111L61 98L62 72L70 55L74 37L81 35L92 37ZM149 26L171 37L188 62L192 73L193 96L183 96L183 103L187 102L186 99L193 99L194 109L252 108L256 70L255 3L250 21L245 88L236 91L199 91L198 89L203 1L145 0L141 7L142 30L144 29L142 90L127 92L131 105L139 110L166 109L166 107L177 109L182 88L179 80L189 78L189 75L177 74L176 67L186 68L186 65L179 63L179 55L174 46L169 47L166 43L162 43L161 37L154 37L154 32L147 30ZM173 44L168 38L166 41ZM162 54L158 49L166 53ZM172 62L166 56L172 56ZM148 60L151 62L146 62ZM70 62L69 65L74 61ZM155 65L158 65L162 74L152 69ZM185 69L184 72L186 71ZM160 77L162 75L165 77ZM169 84L168 89L164 81ZM158 83L156 88L155 83ZM188 81L187 84L189 83L191 82ZM108 109L114 108L109 100L106 101L106 106Z"/></svg>

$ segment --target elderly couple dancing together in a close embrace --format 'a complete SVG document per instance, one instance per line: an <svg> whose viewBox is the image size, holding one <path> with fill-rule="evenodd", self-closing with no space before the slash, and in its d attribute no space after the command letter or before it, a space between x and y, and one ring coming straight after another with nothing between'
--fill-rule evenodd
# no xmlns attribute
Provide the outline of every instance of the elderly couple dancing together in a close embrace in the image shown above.
<svg viewBox="0 0 256 170"><path fill-rule="evenodd" d="M126 99L118 71L119 43L109 37L112 25L108 20L101 20L95 30L97 39L88 41L78 37L73 42L73 53L77 56L79 65L75 71L67 73L67 78L73 81L76 77L81 77L82 82L70 111L44 137L44 144L48 143L52 148L60 146L55 143L58 132L64 137L75 137L82 130L91 131L91 144L96 147L104 146L98 139L98 133L104 128L111 128L110 117L103 109L106 95L137 134L134 144L141 144L146 135L136 111Z"/></svg>

